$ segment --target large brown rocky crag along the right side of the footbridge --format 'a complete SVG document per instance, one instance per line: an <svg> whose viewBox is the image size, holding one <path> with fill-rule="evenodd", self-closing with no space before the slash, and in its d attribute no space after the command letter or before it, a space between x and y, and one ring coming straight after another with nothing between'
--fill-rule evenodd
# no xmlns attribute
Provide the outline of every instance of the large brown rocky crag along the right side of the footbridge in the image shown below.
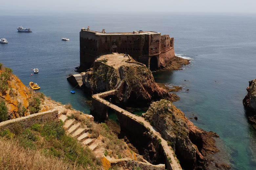
<svg viewBox="0 0 256 170"><path fill-rule="evenodd" d="M212 131L207 132L196 127L171 101L153 102L142 116L149 120L165 140L169 141L183 169L208 169L209 163L213 162L219 165L208 157L209 154L219 151L214 140L219 136Z"/></svg>

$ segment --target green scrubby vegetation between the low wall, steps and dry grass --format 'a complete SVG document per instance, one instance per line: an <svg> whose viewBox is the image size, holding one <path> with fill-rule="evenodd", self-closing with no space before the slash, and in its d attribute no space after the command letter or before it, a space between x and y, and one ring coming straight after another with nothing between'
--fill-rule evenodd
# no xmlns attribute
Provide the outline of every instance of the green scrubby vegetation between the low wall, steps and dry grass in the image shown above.
<svg viewBox="0 0 256 170"><path fill-rule="evenodd" d="M9 130L1 131L0 136L17 141L25 149L39 151L42 156L69 162L75 167L98 169L100 160L96 159L89 148L82 147L75 138L65 135L62 125L62 121L33 124L30 128L16 131L15 135Z"/></svg>

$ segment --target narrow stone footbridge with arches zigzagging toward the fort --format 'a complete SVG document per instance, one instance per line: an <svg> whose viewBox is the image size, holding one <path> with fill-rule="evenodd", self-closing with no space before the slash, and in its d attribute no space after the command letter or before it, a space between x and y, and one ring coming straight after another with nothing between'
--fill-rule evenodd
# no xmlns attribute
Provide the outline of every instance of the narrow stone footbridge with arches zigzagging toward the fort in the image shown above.
<svg viewBox="0 0 256 170"><path fill-rule="evenodd" d="M132 136L133 139L129 140L140 153L143 152L143 148L148 150L145 146L151 144L154 146L157 153L157 156L154 157L154 159L157 160L155 162L153 161L153 164L163 163L165 164L165 169L181 170L181 165L179 164L173 149L167 145L167 141L161 137L160 133L156 131L149 122L145 121L143 117L136 116L117 105L104 100L108 99L109 96L116 96L116 93L117 90L110 90L92 96L91 114L94 116L94 120L103 122L107 118L108 109L110 108L114 110L118 116L121 131ZM152 158L152 155L149 154L148 157L150 159Z"/></svg>

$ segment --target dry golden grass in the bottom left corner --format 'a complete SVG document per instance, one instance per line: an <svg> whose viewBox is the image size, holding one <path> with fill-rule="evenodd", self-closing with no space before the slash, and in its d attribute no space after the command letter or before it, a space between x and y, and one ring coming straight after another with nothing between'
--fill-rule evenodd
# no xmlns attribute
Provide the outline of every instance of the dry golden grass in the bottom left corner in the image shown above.
<svg viewBox="0 0 256 170"><path fill-rule="evenodd" d="M82 169L57 158L45 157L39 151L24 149L18 141L6 141L4 138L0 138L0 153L0 170Z"/></svg>

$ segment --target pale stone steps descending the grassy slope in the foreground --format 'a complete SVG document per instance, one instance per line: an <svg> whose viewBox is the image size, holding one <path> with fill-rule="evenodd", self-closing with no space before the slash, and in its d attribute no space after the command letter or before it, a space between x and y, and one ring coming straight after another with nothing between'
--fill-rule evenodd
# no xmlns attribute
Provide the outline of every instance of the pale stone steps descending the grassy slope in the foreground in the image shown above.
<svg viewBox="0 0 256 170"><path fill-rule="evenodd" d="M59 115L59 119L64 122L64 129L66 134L71 137L75 137L84 146L90 148L94 151L98 147L97 139L90 138L90 133L88 132L88 127L81 127L81 123L75 121L75 119L68 119L66 115Z"/></svg>

